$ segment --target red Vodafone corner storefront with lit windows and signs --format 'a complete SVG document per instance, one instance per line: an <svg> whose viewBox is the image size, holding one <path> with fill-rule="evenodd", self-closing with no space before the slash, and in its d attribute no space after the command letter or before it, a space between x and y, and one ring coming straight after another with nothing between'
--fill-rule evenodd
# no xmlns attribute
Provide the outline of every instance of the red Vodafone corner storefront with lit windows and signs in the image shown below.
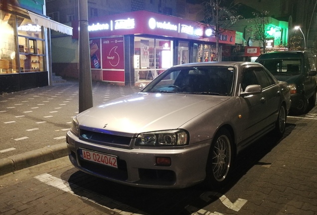
<svg viewBox="0 0 317 215"><path fill-rule="evenodd" d="M78 38L78 21L72 23ZM150 11L89 20L93 76L118 85L139 85L167 68L183 63L213 61L213 29L202 23ZM226 30L221 44L235 44L235 31Z"/></svg>

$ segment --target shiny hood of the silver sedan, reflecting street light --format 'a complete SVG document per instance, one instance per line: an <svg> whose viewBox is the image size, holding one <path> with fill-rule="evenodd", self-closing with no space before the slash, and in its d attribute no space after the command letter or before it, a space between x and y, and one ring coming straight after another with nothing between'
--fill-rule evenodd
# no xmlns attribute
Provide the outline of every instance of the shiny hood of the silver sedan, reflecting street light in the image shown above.
<svg viewBox="0 0 317 215"><path fill-rule="evenodd" d="M168 93L136 93L104 103L77 115L81 128L131 136L179 128L230 97Z"/></svg>

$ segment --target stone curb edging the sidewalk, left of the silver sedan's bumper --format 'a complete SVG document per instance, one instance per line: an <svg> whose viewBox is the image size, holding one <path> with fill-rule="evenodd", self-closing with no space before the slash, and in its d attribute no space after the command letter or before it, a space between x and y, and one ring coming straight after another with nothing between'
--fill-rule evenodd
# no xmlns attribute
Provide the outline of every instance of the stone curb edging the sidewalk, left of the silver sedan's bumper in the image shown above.
<svg viewBox="0 0 317 215"><path fill-rule="evenodd" d="M0 176L15 172L30 166L35 166L50 160L67 156L68 149L66 143L60 143L34 151L13 155L0 159Z"/></svg>

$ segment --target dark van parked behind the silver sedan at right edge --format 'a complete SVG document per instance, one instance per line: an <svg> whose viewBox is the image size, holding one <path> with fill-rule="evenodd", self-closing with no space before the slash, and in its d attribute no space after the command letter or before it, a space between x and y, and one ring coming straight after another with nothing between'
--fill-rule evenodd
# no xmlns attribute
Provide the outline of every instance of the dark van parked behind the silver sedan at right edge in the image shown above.
<svg viewBox="0 0 317 215"><path fill-rule="evenodd" d="M279 81L289 83L291 112L304 114L316 103L315 57L309 51L278 51L262 54L256 62L265 66Z"/></svg>

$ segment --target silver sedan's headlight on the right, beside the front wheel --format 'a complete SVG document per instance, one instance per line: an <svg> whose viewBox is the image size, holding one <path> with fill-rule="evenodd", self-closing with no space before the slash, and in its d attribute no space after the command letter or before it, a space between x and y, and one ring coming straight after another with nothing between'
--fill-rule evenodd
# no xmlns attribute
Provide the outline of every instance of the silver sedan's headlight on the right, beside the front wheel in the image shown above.
<svg viewBox="0 0 317 215"><path fill-rule="evenodd" d="M180 129L141 133L137 137L137 146L181 146L187 145L189 134Z"/></svg>

